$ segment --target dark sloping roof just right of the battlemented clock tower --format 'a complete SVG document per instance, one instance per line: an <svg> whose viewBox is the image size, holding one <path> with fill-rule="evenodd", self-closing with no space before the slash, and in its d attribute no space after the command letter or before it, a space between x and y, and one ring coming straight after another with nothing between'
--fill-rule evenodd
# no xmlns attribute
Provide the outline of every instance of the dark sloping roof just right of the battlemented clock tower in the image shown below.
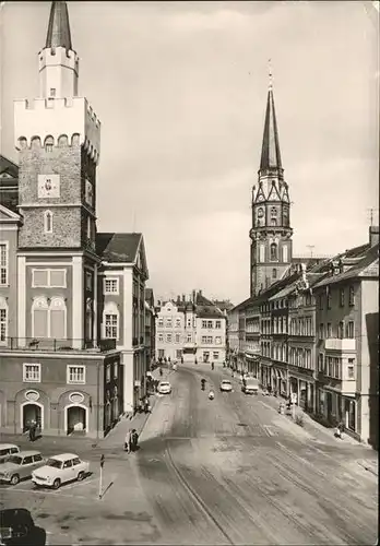
<svg viewBox="0 0 380 546"><path fill-rule="evenodd" d="M96 253L106 261L133 263L142 234L96 234Z"/></svg>

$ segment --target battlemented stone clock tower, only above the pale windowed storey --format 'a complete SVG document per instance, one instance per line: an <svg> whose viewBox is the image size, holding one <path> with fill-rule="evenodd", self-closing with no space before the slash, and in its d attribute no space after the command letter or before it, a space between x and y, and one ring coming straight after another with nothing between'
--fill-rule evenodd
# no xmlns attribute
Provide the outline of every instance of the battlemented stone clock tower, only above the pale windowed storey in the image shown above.
<svg viewBox="0 0 380 546"><path fill-rule="evenodd" d="M79 58L66 2L51 3L38 54L40 98L15 100L20 150L20 248L95 253L96 165L100 123L78 96Z"/></svg>

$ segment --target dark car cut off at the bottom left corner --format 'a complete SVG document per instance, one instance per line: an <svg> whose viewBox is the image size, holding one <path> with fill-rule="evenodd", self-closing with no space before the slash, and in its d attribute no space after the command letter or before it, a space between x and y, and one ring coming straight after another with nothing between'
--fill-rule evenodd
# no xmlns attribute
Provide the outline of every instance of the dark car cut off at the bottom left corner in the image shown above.
<svg viewBox="0 0 380 546"><path fill-rule="evenodd" d="M1 546L45 546L46 532L34 524L25 508L0 510Z"/></svg>

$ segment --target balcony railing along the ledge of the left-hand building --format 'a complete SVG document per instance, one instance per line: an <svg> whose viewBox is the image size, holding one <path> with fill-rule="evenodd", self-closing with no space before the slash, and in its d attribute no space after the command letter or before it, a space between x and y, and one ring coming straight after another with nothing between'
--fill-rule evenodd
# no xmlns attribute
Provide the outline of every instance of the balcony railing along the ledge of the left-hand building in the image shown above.
<svg viewBox="0 0 380 546"><path fill-rule="evenodd" d="M116 340L92 340L73 339L67 340L56 337L7 337L0 351L45 351L45 352L71 352L88 351L93 353L106 353L116 349Z"/></svg>

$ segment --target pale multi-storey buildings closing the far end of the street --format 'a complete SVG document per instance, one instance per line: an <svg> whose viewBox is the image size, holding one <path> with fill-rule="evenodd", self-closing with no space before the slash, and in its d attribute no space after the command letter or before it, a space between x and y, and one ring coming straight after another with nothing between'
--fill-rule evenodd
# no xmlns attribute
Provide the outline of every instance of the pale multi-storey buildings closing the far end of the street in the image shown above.
<svg viewBox="0 0 380 546"><path fill-rule="evenodd" d="M156 357L222 365L226 359L226 314L231 307L228 301L211 301L202 290L158 300Z"/></svg>

